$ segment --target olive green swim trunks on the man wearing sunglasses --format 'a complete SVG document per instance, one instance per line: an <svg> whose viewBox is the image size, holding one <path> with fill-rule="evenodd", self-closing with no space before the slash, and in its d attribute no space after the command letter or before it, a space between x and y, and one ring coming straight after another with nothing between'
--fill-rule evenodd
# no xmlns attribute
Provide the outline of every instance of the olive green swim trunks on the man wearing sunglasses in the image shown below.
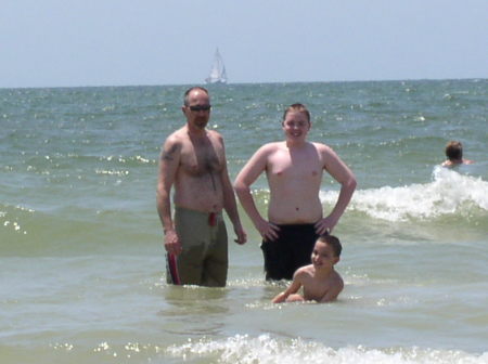
<svg viewBox="0 0 488 364"><path fill-rule="evenodd" d="M229 258L222 213L177 207L175 226L183 251L166 255L166 281L176 285L226 286Z"/></svg>

